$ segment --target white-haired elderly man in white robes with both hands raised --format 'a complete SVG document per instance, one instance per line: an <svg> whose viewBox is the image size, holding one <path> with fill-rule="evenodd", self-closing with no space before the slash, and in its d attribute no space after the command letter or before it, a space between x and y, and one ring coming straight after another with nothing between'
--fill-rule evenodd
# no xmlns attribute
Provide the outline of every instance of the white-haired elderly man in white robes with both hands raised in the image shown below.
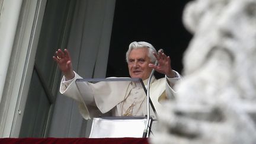
<svg viewBox="0 0 256 144"><path fill-rule="evenodd" d="M146 95L142 87L134 82L84 82L82 92L78 90L75 80L81 78L72 69L71 57L68 50L57 50L53 59L63 73L60 93L78 101L79 110L84 119L90 119L97 114L110 113L111 116L145 116ZM126 60L131 78L140 78L146 85L152 69L164 73L165 78L151 81L151 100L156 111L161 100L171 97L172 87L180 79L180 74L171 68L171 59L163 52L156 53L155 48L144 41L133 42L129 45ZM158 65L154 65L158 60ZM104 94L103 94L104 91ZM168 95L168 96L167 96ZM96 111L95 111L96 110ZM97 112L100 110L100 113Z"/></svg>

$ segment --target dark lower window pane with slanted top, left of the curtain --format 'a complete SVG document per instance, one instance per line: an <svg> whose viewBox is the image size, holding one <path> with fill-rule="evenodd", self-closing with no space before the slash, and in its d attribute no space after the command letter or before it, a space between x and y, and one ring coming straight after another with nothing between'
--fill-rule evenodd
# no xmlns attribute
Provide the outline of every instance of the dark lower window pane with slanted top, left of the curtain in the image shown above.
<svg viewBox="0 0 256 144"><path fill-rule="evenodd" d="M33 72L25 105L20 137L43 137L49 117L50 101L36 71Z"/></svg>

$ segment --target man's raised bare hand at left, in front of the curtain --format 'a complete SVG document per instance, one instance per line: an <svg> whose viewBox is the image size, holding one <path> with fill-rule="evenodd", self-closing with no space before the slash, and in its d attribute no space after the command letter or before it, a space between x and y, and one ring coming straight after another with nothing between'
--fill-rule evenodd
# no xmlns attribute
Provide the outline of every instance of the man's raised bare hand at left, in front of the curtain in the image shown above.
<svg viewBox="0 0 256 144"><path fill-rule="evenodd" d="M56 56L53 56L53 60L57 62L57 65L60 71L62 71L63 75L65 76L66 81L74 78L75 73L73 72L71 56L69 55L68 50L65 49L63 52L62 50L58 49L55 52L55 55Z"/></svg>

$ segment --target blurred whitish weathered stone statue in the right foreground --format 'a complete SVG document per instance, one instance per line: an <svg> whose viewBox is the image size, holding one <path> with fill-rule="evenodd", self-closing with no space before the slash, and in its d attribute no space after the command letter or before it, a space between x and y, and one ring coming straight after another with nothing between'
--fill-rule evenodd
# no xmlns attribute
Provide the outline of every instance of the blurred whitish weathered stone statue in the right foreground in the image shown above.
<svg viewBox="0 0 256 144"><path fill-rule="evenodd" d="M151 143L256 143L256 0L191 1L183 20L184 78Z"/></svg>

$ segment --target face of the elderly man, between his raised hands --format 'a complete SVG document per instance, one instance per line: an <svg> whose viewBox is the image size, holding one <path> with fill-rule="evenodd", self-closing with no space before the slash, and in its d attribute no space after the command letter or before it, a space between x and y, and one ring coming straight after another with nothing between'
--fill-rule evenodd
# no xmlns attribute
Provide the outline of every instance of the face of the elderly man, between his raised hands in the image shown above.
<svg viewBox="0 0 256 144"><path fill-rule="evenodd" d="M128 68L131 78L148 79L152 71L148 64L151 63L148 57L148 48L142 47L133 49L128 57Z"/></svg>

